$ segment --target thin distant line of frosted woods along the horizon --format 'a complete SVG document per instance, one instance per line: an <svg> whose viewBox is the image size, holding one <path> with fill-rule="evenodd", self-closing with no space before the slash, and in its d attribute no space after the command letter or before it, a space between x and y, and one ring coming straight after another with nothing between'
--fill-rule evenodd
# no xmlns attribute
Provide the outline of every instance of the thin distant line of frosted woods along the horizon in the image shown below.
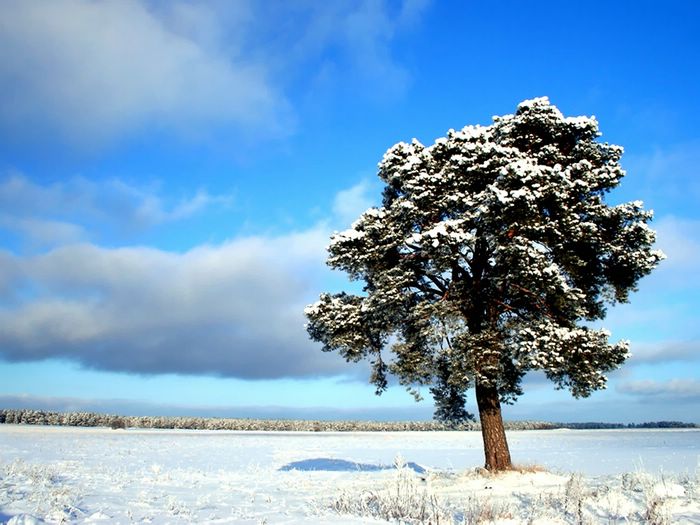
<svg viewBox="0 0 700 525"><path fill-rule="evenodd" d="M157 428L186 430L242 430L294 432L395 432L480 430L478 423L449 425L437 421L313 421L292 419L235 419L202 417L117 416L95 412L45 412L28 409L0 409L0 424L54 425L72 427ZM549 423L507 421L506 430L614 429L614 428L696 428L694 423L658 421L622 423Z"/></svg>

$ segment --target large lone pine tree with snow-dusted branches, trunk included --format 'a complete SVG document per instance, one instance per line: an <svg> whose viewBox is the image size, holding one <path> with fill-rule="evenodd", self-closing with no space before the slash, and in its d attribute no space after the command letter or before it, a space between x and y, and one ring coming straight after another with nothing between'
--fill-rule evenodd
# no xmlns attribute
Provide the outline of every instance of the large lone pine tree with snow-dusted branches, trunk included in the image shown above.
<svg viewBox="0 0 700 525"><path fill-rule="evenodd" d="M322 294L305 310L310 337L369 359L378 393L389 374L414 393L431 385L439 417L465 417L474 387L485 466L510 468L501 403L532 370L575 397L604 388L628 343L591 322L663 258L641 202L606 204L625 173L622 148L599 135L595 118L538 98L432 146L390 148L382 206L328 248L364 291Z"/></svg>

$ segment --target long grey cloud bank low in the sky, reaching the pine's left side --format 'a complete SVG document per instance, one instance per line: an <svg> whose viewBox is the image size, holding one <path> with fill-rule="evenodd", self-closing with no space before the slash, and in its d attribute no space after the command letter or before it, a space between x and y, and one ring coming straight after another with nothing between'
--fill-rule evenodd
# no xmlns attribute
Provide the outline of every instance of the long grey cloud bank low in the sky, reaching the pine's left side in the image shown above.
<svg viewBox="0 0 700 525"><path fill-rule="evenodd" d="M303 328L327 239L312 229L181 254L82 244L14 258L23 279L11 283L31 283L34 292L0 303L0 354L144 374L339 373L346 365L320 352Z"/></svg>

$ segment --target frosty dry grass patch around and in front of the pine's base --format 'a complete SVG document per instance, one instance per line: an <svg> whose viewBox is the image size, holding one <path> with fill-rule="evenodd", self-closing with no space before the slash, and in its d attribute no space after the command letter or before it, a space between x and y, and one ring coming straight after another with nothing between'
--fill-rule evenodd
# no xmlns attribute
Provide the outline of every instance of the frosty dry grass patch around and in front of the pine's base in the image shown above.
<svg viewBox="0 0 700 525"><path fill-rule="evenodd" d="M407 524L700 523L698 473L634 472L586 479L581 474L513 471L417 476L399 468L374 490L345 490L330 508L339 514Z"/></svg>

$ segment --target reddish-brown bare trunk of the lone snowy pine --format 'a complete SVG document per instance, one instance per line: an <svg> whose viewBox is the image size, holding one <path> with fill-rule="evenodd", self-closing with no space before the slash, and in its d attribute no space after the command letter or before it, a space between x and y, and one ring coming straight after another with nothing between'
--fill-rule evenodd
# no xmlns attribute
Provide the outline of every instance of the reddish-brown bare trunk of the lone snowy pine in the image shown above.
<svg viewBox="0 0 700 525"><path fill-rule="evenodd" d="M479 406L481 435L484 438L486 470L509 470L513 467L501 416L498 389L491 385L476 385L476 403Z"/></svg>

